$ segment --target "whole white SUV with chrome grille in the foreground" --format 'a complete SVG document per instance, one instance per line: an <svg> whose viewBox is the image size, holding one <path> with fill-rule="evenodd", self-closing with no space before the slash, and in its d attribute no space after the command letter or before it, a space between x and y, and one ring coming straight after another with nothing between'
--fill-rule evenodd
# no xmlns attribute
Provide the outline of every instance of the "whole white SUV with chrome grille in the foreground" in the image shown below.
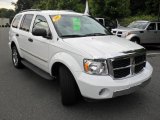
<svg viewBox="0 0 160 120"><path fill-rule="evenodd" d="M9 46L16 68L59 78L62 103L83 96L108 99L149 83L146 50L112 35L90 16L72 11L23 11L15 16Z"/></svg>

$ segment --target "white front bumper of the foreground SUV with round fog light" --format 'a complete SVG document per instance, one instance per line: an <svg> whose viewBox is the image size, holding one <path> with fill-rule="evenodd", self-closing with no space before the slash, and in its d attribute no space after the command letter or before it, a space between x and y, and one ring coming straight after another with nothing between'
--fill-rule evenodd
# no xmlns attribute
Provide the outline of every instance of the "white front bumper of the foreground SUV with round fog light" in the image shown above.
<svg viewBox="0 0 160 120"><path fill-rule="evenodd" d="M113 80L110 76L94 76L86 73L77 74L77 84L82 96L90 99L108 99L130 94L149 83L153 68L147 62L145 69L130 78Z"/></svg>

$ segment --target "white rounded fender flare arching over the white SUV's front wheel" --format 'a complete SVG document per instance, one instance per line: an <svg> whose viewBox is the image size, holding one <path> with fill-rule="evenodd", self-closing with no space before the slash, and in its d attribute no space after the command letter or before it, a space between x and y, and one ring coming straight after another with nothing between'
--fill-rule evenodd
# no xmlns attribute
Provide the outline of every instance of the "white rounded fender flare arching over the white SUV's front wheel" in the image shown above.
<svg viewBox="0 0 160 120"><path fill-rule="evenodd" d="M73 76L76 76L75 75L76 72L82 71L80 64L77 62L77 60L73 56L71 56L68 53L60 52L60 53L57 53L55 56L53 56L50 60L50 63L49 63L50 74L52 74L52 66L56 62L60 62L64 64L66 67L68 67L68 69L71 71Z"/></svg>

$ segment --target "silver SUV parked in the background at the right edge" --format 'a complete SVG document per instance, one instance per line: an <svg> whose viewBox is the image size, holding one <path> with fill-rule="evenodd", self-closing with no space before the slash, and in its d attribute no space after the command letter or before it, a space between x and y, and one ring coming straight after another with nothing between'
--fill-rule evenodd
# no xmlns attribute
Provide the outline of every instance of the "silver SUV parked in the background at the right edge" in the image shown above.
<svg viewBox="0 0 160 120"><path fill-rule="evenodd" d="M160 22L134 21L127 27L112 29L112 33L139 44L157 44L160 43Z"/></svg>

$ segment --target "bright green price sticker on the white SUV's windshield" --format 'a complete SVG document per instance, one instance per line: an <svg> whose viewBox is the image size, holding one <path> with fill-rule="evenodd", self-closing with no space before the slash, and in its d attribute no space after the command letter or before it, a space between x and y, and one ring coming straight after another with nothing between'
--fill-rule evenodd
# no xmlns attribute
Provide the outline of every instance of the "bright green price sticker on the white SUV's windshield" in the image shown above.
<svg viewBox="0 0 160 120"><path fill-rule="evenodd" d="M81 20L80 18L73 18L73 30L79 31L81 29Z"/></svg>

